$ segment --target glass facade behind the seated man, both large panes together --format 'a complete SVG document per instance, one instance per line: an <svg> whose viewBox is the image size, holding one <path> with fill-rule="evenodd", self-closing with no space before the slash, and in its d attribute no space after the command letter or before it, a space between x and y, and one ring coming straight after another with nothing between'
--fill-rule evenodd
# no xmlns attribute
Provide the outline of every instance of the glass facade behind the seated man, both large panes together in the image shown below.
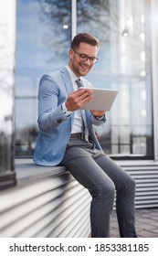
<svg viewBox="0 0 158 256"><path fill-rule="evenodd" d="M119 91L107 123L97 128L106 154L153 158L151 2L118 0L17 0L16 156L31 156L37 137L40 77L68 63L71 10L77 32L99 37L99 61L87 79ZM74 24L73 24L74 26ZM123 29L130 36L122 37Z"/></svg>

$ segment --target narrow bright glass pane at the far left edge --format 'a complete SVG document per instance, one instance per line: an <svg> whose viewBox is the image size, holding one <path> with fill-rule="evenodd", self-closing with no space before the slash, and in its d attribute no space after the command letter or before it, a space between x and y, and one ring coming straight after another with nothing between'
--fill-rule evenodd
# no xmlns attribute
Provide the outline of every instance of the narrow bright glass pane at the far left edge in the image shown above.
<svg viewBox="0 0 158 256"><path fill-rule="evenodd" d="M0 189L16 184L15 158L15 36L16 2L0 2Z"/></svg>

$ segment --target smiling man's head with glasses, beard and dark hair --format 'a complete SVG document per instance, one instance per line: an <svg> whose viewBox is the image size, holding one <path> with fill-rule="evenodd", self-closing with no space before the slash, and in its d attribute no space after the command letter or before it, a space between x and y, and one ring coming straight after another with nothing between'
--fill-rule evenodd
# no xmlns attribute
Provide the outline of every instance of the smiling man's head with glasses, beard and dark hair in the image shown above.
<svg viewBox="0 0 158 256"><path fill-rule="evenodd" d="M97 62L100 41L90 33L79 33L69 50L69 68L78 76L86 76Z"/></svg>

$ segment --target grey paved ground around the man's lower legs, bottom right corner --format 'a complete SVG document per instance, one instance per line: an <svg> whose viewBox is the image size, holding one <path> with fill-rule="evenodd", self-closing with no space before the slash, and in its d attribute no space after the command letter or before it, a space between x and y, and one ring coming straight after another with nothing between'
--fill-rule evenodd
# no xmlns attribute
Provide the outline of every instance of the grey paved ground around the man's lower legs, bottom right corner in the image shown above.
<svg viewBox="0 0 158 256"><path fill-rule="evenodd" d="M138 238L158 238L158 208L135 209L135 227ZM116 211L111 215L111 238L119 238Z"/></svg>

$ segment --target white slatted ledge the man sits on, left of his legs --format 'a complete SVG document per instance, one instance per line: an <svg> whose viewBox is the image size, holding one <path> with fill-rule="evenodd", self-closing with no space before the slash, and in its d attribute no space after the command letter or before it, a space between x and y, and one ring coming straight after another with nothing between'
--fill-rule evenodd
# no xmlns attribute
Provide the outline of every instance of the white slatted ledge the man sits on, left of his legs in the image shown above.
<svg viewBox="0 0 158 256"><path fill-rule="evenodd" d="M84 238L90 193L62 166L16 159L17 186L0 192L0 237Z"/></svg>

